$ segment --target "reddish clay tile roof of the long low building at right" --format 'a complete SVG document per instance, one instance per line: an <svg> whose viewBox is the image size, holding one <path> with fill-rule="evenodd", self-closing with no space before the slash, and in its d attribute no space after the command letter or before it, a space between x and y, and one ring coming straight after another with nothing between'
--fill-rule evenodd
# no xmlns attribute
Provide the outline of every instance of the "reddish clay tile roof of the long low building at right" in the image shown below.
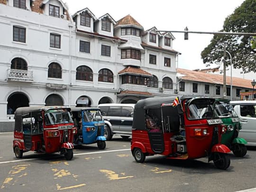
<svg viewBox="0 0 256 192"><path fill-rule="evenodd" d="M187 69L177 69L177 73L180 73L179 75L182 80L223 85L223 75L202 73ZM226 85L230 85L229 76L226 76ZM232 86L249 89L252 88L251 80L238 77L232 77Z"/></svg>

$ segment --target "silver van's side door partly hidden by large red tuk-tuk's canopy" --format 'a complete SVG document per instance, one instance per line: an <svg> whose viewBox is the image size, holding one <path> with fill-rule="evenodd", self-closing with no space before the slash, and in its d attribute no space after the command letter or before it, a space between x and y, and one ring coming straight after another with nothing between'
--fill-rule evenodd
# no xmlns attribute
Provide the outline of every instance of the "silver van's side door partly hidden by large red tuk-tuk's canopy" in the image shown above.
<svg viewBox="0 0 256 192"><path fill-rule="evenodd" d="M133 121L133 108L122 106L120 131L131 134Z"/></svg>

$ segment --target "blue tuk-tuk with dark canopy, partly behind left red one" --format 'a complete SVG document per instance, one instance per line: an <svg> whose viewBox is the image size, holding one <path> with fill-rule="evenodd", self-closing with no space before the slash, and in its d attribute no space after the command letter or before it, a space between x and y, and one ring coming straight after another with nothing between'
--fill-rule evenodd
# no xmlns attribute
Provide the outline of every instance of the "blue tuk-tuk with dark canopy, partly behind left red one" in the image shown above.
<svg viewBox="0 0 256 192"><path fill-rule="evenodd" d="M74 136L73 144L97 143L99 149L105 149L106 137L104 137L104 119L100 108L74 107L71 108L74 125L77 134Z"/></svg>

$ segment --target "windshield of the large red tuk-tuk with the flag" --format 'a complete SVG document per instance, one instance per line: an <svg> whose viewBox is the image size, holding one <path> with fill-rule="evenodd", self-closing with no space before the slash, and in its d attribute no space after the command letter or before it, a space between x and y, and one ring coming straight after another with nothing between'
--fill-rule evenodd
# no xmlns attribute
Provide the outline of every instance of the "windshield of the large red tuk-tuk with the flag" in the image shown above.
<svg viewBox="0 0 256 192"><path fill-rule="evenodd" d="M214 117L213 101L208 98L192 99L187 101L188 119L211 119Z"/></svg>

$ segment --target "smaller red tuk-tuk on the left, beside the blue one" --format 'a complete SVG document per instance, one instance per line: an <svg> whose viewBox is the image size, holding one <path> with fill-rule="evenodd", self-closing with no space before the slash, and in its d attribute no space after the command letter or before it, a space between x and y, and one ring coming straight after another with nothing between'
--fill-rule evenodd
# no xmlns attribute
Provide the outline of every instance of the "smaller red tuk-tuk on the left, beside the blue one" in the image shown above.
<svg viewBox="0 0 256 192"><path fill-rule="evenodd" d="M13 151L17 158L23 153L64 154L73 158L73 135L76 134L70 108L63 106L21 107L15 111Z"/></svg>

